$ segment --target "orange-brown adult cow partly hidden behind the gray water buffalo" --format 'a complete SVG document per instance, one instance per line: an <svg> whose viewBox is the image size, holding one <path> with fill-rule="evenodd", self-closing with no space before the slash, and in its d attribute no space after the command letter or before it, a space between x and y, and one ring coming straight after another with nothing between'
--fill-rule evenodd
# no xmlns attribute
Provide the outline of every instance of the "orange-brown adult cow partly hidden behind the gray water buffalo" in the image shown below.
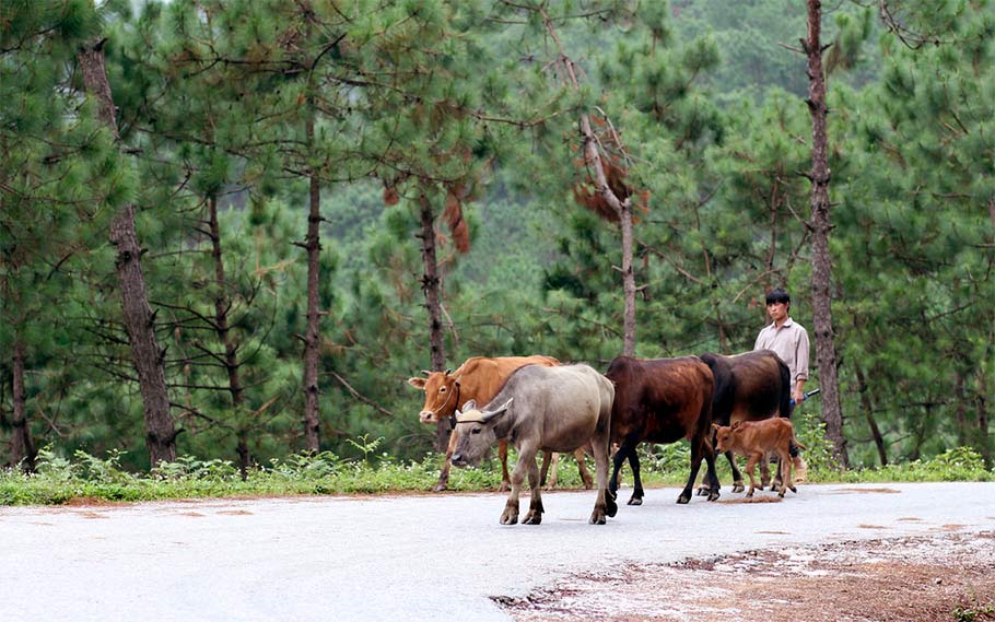
<svg viewBox="0 0 995 622"><path fill-rule="evenodd" d="M472 356L467 359L463 365L453 373L446 372L425 372L426 378L409 378L408 384L417 389L425 391L425 404L422 407L419 419L422 423L436 423L444 419L450 419L457 409L463 409L469 400L477 403L489 402L501 389L504 382L515 369L524 365L543 365L551 367L559 365L560 361L552 356L542 356L539 354L532 356ZM456 447L456 434L449 434L449 444L446 447L446 457L438 474L435 492L446 490L449 481L449 458L453 456L453 449ZM590 481L590 473L587 466L583 462L583 453L578 451L578 468L581 477L585 483ZM501 459L501 491L506 491L511 486L511 478L507 471L507 441L497 444L497 457ZM586 477L585 477L586 476ZM589 486L588 486L589 488Z"/></svg>

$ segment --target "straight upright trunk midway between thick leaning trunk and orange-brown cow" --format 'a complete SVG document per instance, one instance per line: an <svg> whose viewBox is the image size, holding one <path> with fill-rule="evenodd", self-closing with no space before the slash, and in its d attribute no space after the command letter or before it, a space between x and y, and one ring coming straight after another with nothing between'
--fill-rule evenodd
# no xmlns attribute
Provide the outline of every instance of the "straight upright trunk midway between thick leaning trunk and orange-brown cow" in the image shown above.
<svg viewBox="0 0 995 622"><path fill-rule="evenodd" d="M314 107L312 106L312 110ZM314 115L307 119L307 144L315 139ZM318 176L311 173L311 208L307 214L307 329L304 336L304 441L309 451L320 448L318 421L318 269L321 256L321 189Z"/></svg>

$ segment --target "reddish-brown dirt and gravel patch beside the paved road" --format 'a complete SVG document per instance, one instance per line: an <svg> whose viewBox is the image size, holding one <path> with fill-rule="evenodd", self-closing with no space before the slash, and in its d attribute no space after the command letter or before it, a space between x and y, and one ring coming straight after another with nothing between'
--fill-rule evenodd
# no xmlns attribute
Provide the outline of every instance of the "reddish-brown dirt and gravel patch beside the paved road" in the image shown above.
<svg viewBox="0 0 995 622"><path fill-rule="evenodd" d="M995 531L851 541L576 575L494 598L518 621L995 622Z"/></svg>

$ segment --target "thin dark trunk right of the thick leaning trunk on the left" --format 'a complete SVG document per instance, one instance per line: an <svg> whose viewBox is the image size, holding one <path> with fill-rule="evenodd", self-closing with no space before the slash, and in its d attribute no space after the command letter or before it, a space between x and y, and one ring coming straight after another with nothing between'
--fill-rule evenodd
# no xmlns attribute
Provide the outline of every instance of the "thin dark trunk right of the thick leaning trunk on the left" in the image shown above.
<svg viewBox="0 0 995 622"><path fill-rule="evenodd" d="M231 298L227 295L227 278L224 273L224 256L221 250L221 227L218 224L218 198L208 197L208 227L211 238L211 259L214 261L214 331L224 345L224 368L229 376L229 392L232 395L232 407L239 414L245 402L245 391L242 388L238 363L238 344L232 338L229 326L229 307ZM249 451L247 424L238 424L238 470L242 481L248 479Z"/></svg>

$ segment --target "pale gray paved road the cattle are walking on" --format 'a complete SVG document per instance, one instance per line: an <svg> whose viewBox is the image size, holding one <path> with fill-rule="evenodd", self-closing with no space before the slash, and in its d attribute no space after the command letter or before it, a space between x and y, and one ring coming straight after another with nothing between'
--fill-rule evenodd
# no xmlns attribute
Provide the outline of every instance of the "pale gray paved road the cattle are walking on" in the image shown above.
<svg viewBox="0 0 995 622"><path fill-rule="evenodd" d="M687 506L678 489L649 490L602 527L587 525L592 492L547 493L542 525L511 527L499 494L2 507L0 620L506 620L489 597L571 573L995 529L995 483L798 490Z"/></svg>

